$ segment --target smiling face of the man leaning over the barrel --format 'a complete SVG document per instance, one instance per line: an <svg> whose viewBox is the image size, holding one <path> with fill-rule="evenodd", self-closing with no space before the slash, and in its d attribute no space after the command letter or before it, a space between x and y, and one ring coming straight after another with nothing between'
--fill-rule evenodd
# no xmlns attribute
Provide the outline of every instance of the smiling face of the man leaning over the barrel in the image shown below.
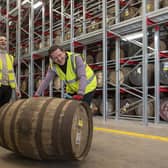
<svg viewBox="0 0 168 168"><path fill-rule="evenodd" d="M58 65L64 65L65 64L65 52L61 51L60 49L57 49L51 53L51 58L54 63Z"/></svg>

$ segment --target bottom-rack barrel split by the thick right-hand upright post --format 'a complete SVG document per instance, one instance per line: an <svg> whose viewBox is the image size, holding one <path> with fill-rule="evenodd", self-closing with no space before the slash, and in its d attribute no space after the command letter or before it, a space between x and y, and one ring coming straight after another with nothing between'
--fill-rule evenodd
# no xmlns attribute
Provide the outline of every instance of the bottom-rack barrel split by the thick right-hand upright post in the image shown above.
<svg viewBox="0 0 168 168"><path fill-rule="evenodd" d="M147 104L147 115L148 117L153 117L154 116L154 104L153 102L149 101ZM140 102L136 108L135 108L135 113L137 116L142 116L143 115L143 104Z"/></svg>

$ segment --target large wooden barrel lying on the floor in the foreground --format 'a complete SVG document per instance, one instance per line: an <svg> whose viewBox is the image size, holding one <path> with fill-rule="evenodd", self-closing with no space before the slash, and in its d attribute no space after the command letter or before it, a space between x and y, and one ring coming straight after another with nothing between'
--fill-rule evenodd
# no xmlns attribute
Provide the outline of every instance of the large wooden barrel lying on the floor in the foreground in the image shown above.
<svg viewBox="0 0 168 168"><path fill-rule="evenodd" d="M1 108L0 145L25 157L82 160L92 132L92 114L83 102L40 97Z"/></svg>

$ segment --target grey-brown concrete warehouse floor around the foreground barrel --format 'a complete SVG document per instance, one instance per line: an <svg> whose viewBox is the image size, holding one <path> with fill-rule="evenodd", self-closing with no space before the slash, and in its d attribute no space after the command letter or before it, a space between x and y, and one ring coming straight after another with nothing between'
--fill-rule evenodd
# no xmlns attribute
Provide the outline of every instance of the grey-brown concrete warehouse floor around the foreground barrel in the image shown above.
<svg viewBox="0 0 168 168"><path fill-rule="evenodd" d="M149 124L126 120L108 120L94 118L94 126L112 130L143 133L145 135L168 138L167 124ZM120 132L94 131L93 143L89 155L84 161L34 161L26 159L0 147L0 166L2 168L167 168L168 139L162 141L150 137L137 137ZM135 136L134 136L135 135Z"/></svg>

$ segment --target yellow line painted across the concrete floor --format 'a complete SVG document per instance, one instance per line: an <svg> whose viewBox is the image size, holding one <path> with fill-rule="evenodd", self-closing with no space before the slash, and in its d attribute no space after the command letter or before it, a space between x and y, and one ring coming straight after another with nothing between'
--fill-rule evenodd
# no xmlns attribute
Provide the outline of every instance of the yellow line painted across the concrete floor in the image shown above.
<svg viewBox="0 0 168 168"><path fill-rule="evenodd" d="M127 132L127 131L114 130L109 128L99 128L99 127L94 127L94 130L168 142L168 137L162 137L162 136L154 136L154 135L148 135L148 134L140 134L136 132Z"/></svg>

